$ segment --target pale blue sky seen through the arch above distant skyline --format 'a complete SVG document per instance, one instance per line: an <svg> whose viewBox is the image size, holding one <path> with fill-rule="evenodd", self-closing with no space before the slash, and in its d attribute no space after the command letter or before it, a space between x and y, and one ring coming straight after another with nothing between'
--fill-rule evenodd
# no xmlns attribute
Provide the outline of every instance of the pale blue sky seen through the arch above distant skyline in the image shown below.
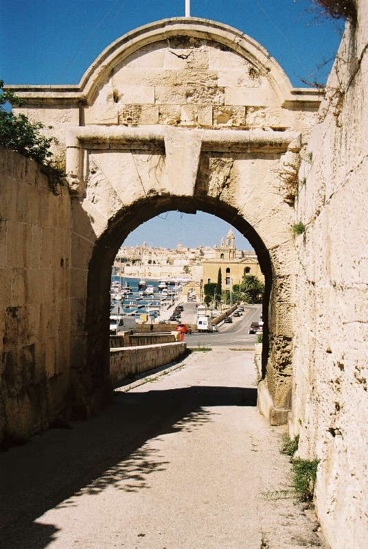
<svg viewBox="0 0 368 549"><path fill-rule="evenodd" d="M161 213L137 227L122 242L122 246L141 246L146 242L148 246L162 248L176 248L178 244L189 248L213 248L215 244L220 245L221 238L226 238L230 229L234 233L238 250L253 250L249 241L235 227L203 211L195 215L179 211Z"/></svg>

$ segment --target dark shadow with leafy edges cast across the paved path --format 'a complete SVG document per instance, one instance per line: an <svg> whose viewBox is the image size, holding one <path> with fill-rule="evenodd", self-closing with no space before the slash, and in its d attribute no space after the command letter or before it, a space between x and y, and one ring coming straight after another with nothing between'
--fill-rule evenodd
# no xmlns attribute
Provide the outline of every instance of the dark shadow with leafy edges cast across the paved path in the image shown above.
<svg viewBox="0 0 368 549"><path fill-rule="evenodd" d="M43 549L58 528L36 521L55 506L114 486L149 489L148 478L168 462L148 441L211 421L216 406L255 406L257 389L191 386L115 393L114 403L90 421L52 429L0 456L1 548Z"/></svg>

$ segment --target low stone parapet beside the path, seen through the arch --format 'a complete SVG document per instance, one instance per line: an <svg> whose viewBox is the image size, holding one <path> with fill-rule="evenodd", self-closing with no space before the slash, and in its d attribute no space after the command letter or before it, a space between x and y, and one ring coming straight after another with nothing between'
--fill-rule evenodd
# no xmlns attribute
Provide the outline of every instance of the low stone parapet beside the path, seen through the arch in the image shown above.
<svg viewBox="0 0 368 549"><path fill-rule="evenodd" d="M124 347L110 350L110 381L119 387L123 379L164 366L181 358L187 350L185 342Z"/></svg>

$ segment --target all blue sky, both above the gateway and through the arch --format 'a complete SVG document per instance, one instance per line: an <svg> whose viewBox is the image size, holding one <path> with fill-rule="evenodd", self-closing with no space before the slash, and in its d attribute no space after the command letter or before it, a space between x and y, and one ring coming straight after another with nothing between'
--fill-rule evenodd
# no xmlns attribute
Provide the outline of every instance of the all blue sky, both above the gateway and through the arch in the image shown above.
<svg viewBox="0 0 368 549"><path fill-rule="evenodd" d="M334 57L343 30L341 23L308 14L310 4L311 0L191 0L191 15L249 34L279 62L292 85L302 87L301 78L325 82L331 63L317 72L316 68ZM1 0L0 7L0 79L5 84L77 84L119 36L158 19L185 15L185 0ZM207 214L170 212L165 220L162 217L143 224L126 244L151 239L152 245L161 246L213 245L230 228L225 222L216 226L214 216ZM156 242L154 234L162 233L154 227L163 222L167 240ZM249 248L240 234L235 236L238 248Z"/></svg>

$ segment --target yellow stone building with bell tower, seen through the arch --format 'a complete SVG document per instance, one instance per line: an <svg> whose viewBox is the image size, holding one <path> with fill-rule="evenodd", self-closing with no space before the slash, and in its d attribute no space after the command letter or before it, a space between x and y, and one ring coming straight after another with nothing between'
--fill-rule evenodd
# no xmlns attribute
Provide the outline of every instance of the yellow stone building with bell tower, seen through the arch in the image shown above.
<svg viewBox="0 0 368 549"><path fill-rule="evenodd" d="M222 290L230 290L234 284L241 283L244 274L254 274L264 282L257 255L253 251L237 250L233 231L227 233L226 239L222 238L220 246L211 249L210 257L205 253L202 266L203 284L217 282L221 269Z"/></svg>

